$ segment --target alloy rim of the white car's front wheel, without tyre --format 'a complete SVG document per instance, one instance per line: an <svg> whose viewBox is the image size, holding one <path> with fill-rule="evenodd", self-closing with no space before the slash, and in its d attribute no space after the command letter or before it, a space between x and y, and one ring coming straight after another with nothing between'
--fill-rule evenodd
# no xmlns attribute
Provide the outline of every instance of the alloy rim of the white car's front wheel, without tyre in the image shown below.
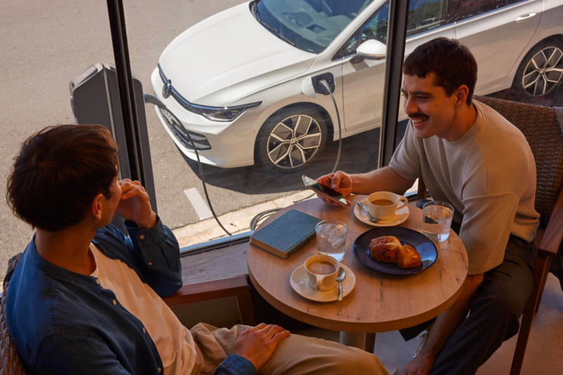
<svg viewBox="0 0 563 375"><path fill-rule="evenodd" d="M307 114L293 114L279 121L266 143L268 159L282 169L302 166L323 144L321 126Z"/></svg>

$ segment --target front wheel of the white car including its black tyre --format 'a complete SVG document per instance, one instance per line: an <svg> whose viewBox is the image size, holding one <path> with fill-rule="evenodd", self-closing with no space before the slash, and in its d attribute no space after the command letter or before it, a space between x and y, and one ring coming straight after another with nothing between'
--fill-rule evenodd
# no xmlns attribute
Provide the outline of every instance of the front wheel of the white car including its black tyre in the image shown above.
<svg viewBox="0 0 563 375"><path fill-rule="evenodd" d="M327 125L318 111L281 110L267 119L255 143L257 161L279 173L303 169L327 143Z"/></svg>

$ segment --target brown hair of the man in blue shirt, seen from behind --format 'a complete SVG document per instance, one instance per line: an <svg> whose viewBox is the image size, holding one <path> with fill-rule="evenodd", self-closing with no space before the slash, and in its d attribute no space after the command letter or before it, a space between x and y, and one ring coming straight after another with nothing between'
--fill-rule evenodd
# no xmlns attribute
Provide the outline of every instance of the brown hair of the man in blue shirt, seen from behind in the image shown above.
<svg viewBox="0 0 563 375"><path fill-rule="evenodd" d="M118 146L100 125L49 126L22 145L8 177L15 216L49 232L84 220L99 193L113 194Z"/></svg>

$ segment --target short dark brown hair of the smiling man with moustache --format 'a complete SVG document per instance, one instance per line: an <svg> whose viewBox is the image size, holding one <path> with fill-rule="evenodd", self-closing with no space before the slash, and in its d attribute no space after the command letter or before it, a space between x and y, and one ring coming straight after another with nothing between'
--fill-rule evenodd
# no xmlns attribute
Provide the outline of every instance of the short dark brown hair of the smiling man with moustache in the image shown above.
<svg viewBox="0 0 563 375"><path fill-rule="evenodd" d="M477 62L467 46L444 37L421 44L405 59L403 73L419 78L436 74L434 84L444 88L448 96L462 85L469 88L467 105L472 103L477 81Z"/></svg>

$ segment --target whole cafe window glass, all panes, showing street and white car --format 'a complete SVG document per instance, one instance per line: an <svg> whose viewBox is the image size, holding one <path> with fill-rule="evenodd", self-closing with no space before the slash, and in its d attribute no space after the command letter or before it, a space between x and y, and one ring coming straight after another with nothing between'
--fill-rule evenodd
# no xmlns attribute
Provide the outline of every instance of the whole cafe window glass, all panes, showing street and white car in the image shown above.
<svg viewBox="0 0 563 375"><path fill-rule="evenodd" d="M494 9L486 7L493 3ZM550 20L542 15L542 1L516 6L510 6L514 1L502 2L506 10L526 11L498 24L492 22L493 15L506 12L500 11L497 1L410 4L405 54L423 41L457 35L479 64L476 94L563 105L558 74L563 58L557 58L563 44L534 34L536 29L560 27L560 22L542 23ZM462 4L476 9L463 13L464 17L499 11L491 12L486 27L492 28L475 28L485 30L479 34L464 26L471 22L451 23L456 4L458 10ZM555 2L545 4L553 7L546 8L546 14L559 11ZM17 8L6 7L6 14ZM139 108L146 114L158 214L175 231L181 246L227 236L211 208L224 228L237 234L248 232L259 213L309 197L301 176L317 178L334 169L340 133L337 169L363 173L379 166L385 60L351 60L358 44L368 39L387 43L388 3L263 0L256 9L271 28L260 23L252 4L241 0L158 6L125 1L130 62L142 93L163 98L163 88L171 82L170 96L163 100L169 112L150 103ZM528 13L536 16L514 22ZM27 136L45 126L75 122L70 81L96 63L113 64L114 55L106 4L65 3L61 9L51 9L37 3L26 9L25 17L5 18L3 27L6 142L1 155L6 178ZM339 51L341 58L335 59ZM542 60L543 55L548 58ZM534 70L540 62L547 64L546 70ZM331 77L341 132L331 97L315 93L312 98L320 81L328 79L330 85ZM543 77L545 86L533 84L536 79L543 82ZM304 79L311 81L303 83ZM310 95L303 93L304 87ZM400 119L405 119L404 114ZM200 152L203 176L188 131ZM6 204L2 206L0 242L7 251L0 258L0 271L4 274L8 259L25 249L33 231Z"/></svg>

